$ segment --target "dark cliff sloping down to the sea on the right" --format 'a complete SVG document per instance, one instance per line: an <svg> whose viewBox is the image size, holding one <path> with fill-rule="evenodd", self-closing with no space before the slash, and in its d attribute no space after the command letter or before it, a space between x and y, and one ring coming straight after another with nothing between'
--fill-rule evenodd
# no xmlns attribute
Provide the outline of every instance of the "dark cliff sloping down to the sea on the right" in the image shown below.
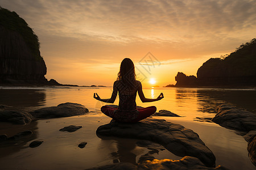
<svg viewBox="0 0 256 170"><path fill-rule="evenodd" d="M196 76L177 73L175 87L243 87L256 86L256 39L242 44L226 57L210 58Z"/></svg>

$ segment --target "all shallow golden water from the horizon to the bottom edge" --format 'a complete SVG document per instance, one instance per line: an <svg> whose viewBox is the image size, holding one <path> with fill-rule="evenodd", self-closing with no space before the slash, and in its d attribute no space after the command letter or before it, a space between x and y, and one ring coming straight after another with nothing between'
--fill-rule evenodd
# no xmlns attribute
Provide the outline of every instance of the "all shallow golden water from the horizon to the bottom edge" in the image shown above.
<svg viewBox="0 0 256 170"><path fill-rule="evenodd" d="M158 111L166 109L184 116L155 118L163 118L181 124L198 133L205 145L216 156L216 165L224 165L230 169L255 169L247 156L247 142L237 135L236 131L222 128L213 122L207 122L216 114L217 106L223 103L255 113L255 89L148 88L143 91L146 97L157 97L160 92L163 92L164 99L154 103L142 103L137 97L137 105L142 107L155 105ZM26 129L34 131L28 141L23 141L15 146L0 147L2 167L11 169L63 169L67 167L84 169L110 164L115 159L120 162L138 162L139 157L146 154L148 149L137 146L136 140L100 139L97 137L95 133L97 127L107 124L110 118L100 112L101 106L105 103L93 99L94 92L97 92L101 98L108 98L112 94L112 88L0 87L0 104L9 105L15 109L30 111L72 102L85 105L90 111L88 116L39 120L25 126L0 123L0 134L6 133L11 136ZM114 104L118 104L118 97ZM59 131L68 125L82 125L83 128L75 133ZM28 147L29 143L35 139L43 139L44 143L37 148ZM88 145L81 150L77 145L82 141L88 142ZM118 152L119 155L113 156L113 152ZM167 150L160 151L159 155L155 154L154 156L156 159L180 159L179 156Z"/></svg>

